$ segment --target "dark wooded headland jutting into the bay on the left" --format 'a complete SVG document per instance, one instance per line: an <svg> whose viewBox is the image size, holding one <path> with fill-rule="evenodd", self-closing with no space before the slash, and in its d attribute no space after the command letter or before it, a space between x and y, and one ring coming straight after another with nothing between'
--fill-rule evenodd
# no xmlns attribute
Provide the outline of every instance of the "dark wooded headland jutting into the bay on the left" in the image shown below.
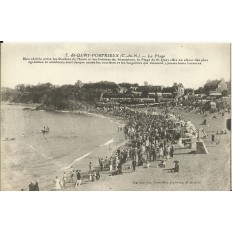
<svg viewBox="0 0 232 232"><path fill-rule="evenodd" d="M12 103L36 103L38 109L46 110L76 110L94 106L102 93L117 93L120 87L130 88L138 84L116 84L109 81L96 83L82 83L77 81L74 85L55 86L51 83L24 85L15 89L2 88L1 101Z"/></svg>

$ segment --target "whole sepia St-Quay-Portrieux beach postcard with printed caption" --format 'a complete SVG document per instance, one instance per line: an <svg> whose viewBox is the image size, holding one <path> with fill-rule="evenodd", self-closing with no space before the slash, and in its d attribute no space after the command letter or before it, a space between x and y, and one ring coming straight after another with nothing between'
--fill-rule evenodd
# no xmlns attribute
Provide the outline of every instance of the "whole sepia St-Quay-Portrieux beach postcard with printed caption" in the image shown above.
<svg viewBox="0 0 232 232"><path fill-rule="evenodd" d="M1 43L2 191L229 191L230 118L230 44Z"/></svg>

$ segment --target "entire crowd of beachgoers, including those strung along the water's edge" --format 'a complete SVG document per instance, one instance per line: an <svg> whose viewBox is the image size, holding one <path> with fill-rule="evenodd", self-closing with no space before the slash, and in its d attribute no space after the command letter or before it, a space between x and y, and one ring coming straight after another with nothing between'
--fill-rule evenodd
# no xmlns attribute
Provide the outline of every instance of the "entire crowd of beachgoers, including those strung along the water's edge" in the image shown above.
<svg viewBox="0 0 232 232"><path fill-rule="evenodd" d="M149 167L151 162L158 161L156 168L166 168L168 160L174 157L175 144L180 138L197 137L197 131L193 124L182 118L181 110L168 110L164 108L161 113L154 110L133 110L128 107L103 107L98 108L98 112L110 116L116 116L117 119L123 119L125 125L118 126L118 131L124 133L128 141L124 149L117 151L110 157L99 158L99 168L93 168L92 162L89 162L89 168L85 179L89 182L98 181L100 172L110 171L111 175L123 173L123 165L129 163L129 168L133 172L138 166ZM206 125L206 119L202 125ZM221 134L223 132L221 131ZM225 133L225 132L224 132ZM219 132L217 132L219 134ZM212 135L212 142L215 136ZM179 172L179 161L174 160L174 167L169 169L171 172ZM56 177L53 190L63 190L68 186L78 188L82 184L81 170L70 168L69 177L66 172L63 177ZM33 187L34 186L34 187ZM29 190L39 190L38 182L31 183Z"/></svg>

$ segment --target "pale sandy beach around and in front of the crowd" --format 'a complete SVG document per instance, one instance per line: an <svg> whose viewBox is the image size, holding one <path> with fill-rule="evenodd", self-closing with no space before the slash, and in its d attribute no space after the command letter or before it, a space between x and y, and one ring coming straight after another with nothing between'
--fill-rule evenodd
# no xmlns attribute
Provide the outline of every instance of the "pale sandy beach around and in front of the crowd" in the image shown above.
<svg viewBox="0 0 232 232"><path fill-rule="evenodd" d="M91 182L85 177L82 185L75 188L73 184L67 184L64 190L77 191L148 191L148 190L230 190L230 132L227 134L217 135L219 144L211 143L211 134L217 130L226 130L226 119L229 114L224 117L212 119L213 114L203 117L201 115L184 112L182 116L185 120L190 120L196 128L202 127L208 134L208 138L203 139L209 154L193 154L189 148L176 147L173 159L167 161L166 168L157 168L159 161L151 162L150 168L142 166L136 167L133 172L131 160L127 161L123 168L123 174L111 176L109 171L100 172L101 178L98 181ZM200 125L204 119L207 119L207 125ZM125 143L129 142L128 140ZM126 145L119 144L121 149ZM114 148L116 150L116 147ZM223 150L223 152L222 152ZM105 157L106 154L102 154ZM97 159L99 156L90 156L83 159L88 167L91 160L97 168ZM180 171L171 173L168 169L174 167L174 160L180 162Z"/></svg>

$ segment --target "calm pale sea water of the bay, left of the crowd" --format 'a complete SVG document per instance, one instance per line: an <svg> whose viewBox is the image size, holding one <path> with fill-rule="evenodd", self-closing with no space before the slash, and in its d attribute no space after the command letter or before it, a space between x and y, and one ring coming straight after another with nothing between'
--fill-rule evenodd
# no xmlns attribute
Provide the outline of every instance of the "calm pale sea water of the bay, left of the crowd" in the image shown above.
<svg viewBox="0 0 232 232"><path fill-rule="evenodd" d="M62 177L72 165L88 170L88 162L110 155L123 142L119 122L97 115L23 110L26 106L1 105L1 188L28 189L39 180L40 188ZM50 132L41 129L49 126ZM23 136L23 134L25 136ZM6 137L15 138L4 141Z"/></svg>

